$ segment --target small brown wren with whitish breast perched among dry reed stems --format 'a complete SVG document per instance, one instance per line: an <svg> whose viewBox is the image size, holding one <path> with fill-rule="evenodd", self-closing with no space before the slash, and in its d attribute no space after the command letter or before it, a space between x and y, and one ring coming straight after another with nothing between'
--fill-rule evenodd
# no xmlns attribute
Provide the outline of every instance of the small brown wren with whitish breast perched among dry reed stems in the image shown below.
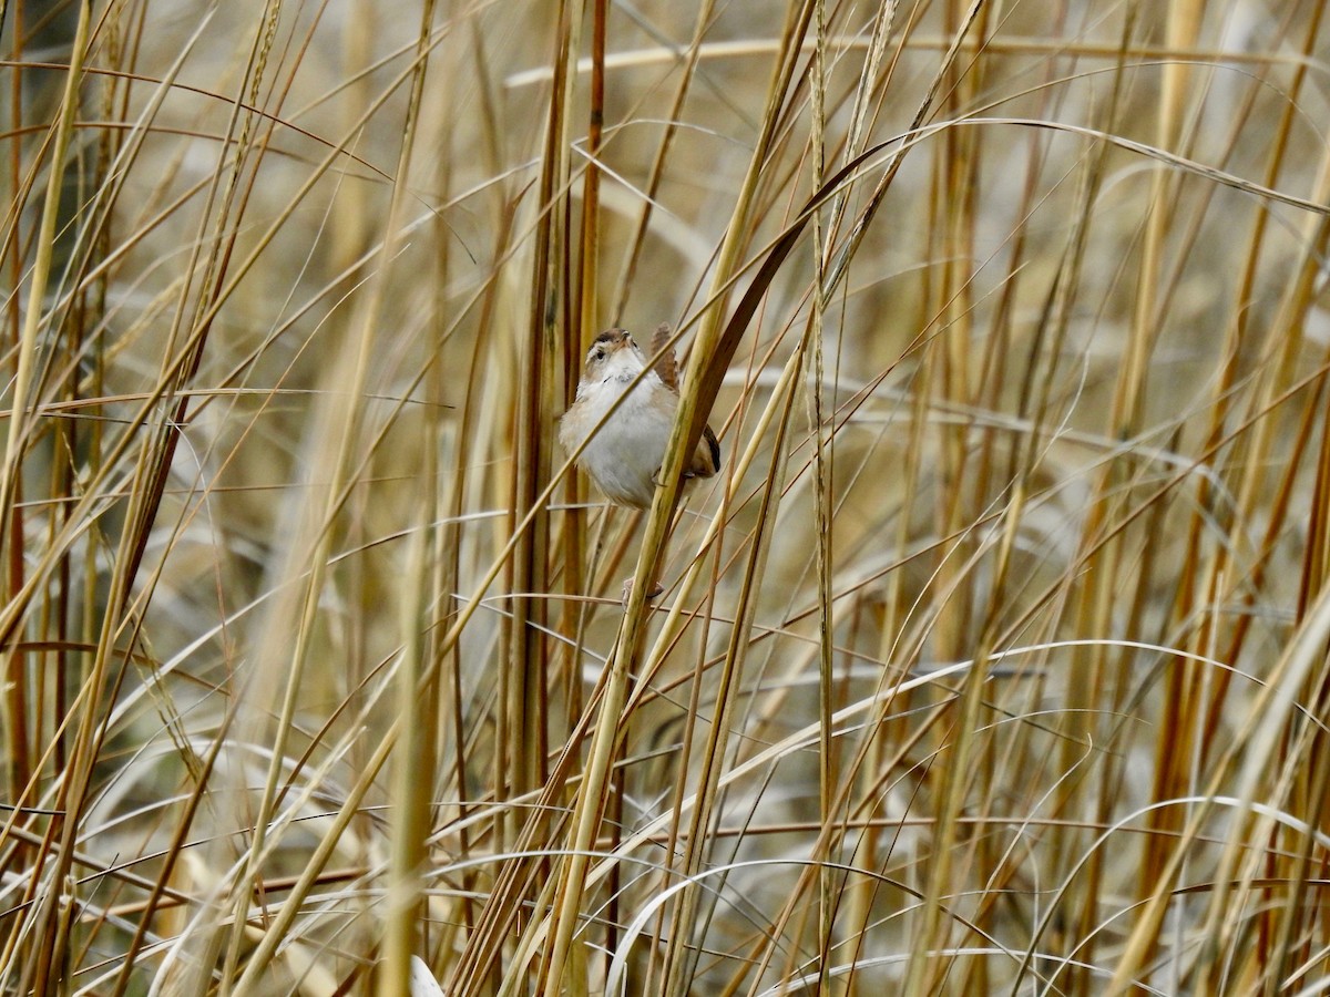
<svg viewBox="0 0 1330 997"><path fill-rule="evenodd" d="M660 326L652 336L650 352L658 352L669 335L669 326ZM581 445L645 367L646 358L626 330L612 328L596 336L587 351L577 400L559 421L559 443L565 451L572 453ZM670 348L637 382L577 460L609 501L634 509L650 506L677 408L678 366ZM684 477L712 477L720 469L721 444L708 425L684 468Z"/></svg>

